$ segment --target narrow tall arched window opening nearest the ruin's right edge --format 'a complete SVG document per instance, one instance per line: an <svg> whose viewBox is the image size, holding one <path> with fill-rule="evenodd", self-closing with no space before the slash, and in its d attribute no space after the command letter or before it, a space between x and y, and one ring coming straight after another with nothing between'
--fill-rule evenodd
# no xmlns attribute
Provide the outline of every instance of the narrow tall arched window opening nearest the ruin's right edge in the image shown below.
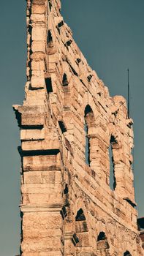
<svg viewBox="0 0 144 256"><path fill-rule="evenodd" d="M110 189L115 190L116 180L115 180L115 168L113 161L113 144L116 143L116 140L113 135L110 137L110 147L109 147L109 158L110 158Z"/></svg>

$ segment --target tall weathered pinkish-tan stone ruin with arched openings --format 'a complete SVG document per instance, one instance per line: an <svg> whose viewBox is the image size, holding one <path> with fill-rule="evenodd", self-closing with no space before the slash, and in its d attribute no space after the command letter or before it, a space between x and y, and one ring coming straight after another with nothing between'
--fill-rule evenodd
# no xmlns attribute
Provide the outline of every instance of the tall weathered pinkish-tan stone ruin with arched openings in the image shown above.
<svg viewBox="0 0 144 256"><path fill-rule="evenodd" d="M14 105L21 146L22 256L141 256L133 129L61 17L27 0L27 83ZM110 187L110 150L113 187Z"/></svg>

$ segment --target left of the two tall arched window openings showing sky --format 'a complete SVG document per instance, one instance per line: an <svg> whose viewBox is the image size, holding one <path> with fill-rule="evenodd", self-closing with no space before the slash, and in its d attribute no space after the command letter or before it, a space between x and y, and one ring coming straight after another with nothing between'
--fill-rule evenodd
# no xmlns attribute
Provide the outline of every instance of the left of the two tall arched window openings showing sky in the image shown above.
<svg viewBox="0 0 144 256"><path fill-rule="evenodd" d="M91 140L88 138L88 135L91 132L91 128L94 127L94 113L90 105L87 105L85 108L85 125L84 130L86 134L86 146L85 146L85 160L86 164L90 166L91 164Z"/></svg>

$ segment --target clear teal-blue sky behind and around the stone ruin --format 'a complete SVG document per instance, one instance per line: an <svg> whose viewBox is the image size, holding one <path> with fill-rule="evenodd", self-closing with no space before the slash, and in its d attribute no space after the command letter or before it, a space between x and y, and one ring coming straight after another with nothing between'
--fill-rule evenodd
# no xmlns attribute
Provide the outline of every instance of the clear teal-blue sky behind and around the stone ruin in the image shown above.
<svg viewBox="0 0 144 256"><path fill-rule="evenodd" d="M112 96L126 97L129 67L134 186L144 216L144 1L62 0L62 7L77 45ZM26 1L1 1L0 31L0 256L14 256L20 239L20 140L12 104L23 102L26 83Z"/></svg>

